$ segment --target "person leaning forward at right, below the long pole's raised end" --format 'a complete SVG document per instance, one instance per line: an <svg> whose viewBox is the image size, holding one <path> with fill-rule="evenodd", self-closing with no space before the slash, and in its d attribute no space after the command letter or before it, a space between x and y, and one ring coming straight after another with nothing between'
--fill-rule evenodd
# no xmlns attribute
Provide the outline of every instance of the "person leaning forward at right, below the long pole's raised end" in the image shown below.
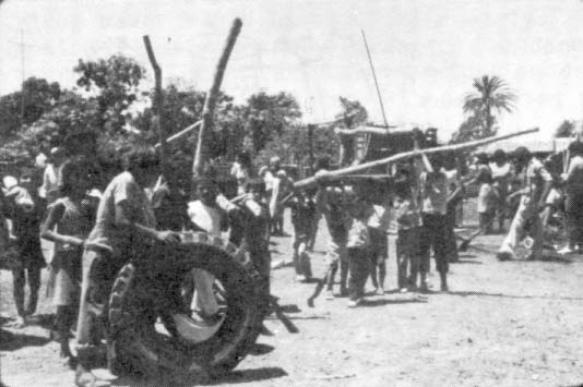
<svg viewBox="0 0 583 387"><path fill-rule="evenodd" d="M521 146L514 150L517 170L524 169L524 184L521 190L521 202L514 215L507 238L496 255L500 261L514 257L514 249L520 242L526 221L532 221L534 238L533 251L530 258L540 259L543 255L543 225L539 213L545 207L545 201L550 192L552 177L545 169L540 160L531 152Z"/></svg>

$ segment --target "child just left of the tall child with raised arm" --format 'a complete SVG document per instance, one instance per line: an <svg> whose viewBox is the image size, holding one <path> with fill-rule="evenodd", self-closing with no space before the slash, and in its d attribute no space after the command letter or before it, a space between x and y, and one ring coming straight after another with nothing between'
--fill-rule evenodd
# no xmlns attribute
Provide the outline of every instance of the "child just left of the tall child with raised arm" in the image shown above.
<svg viewBox="0 0 583 387"><path fill-rule="evenodd" d="M397 285L402 292L414 291L417 289L417 275L419 273L417 246L419 244L421 219L408 180L402 179L395 182L394 193L393 213L397 228ZM407 266L411 269L409 276L407 276Z"/></svg>

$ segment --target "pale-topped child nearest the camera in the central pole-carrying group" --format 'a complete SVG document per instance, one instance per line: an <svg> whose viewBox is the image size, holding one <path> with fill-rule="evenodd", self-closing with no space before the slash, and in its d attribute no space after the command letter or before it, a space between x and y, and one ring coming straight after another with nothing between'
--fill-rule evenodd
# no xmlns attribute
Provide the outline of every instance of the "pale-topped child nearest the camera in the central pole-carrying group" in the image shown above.
<svg viewBox="0 0 583 387"><path fill-rule="evenodd" d="M372 214L372 204L362 185L355 186L355 198L348 208L352 223L348 229L346 254L348 256L348 307L356 307L362 302L365 285L368 277L368 257L370 235L368 233L368 219Z"/></svg>

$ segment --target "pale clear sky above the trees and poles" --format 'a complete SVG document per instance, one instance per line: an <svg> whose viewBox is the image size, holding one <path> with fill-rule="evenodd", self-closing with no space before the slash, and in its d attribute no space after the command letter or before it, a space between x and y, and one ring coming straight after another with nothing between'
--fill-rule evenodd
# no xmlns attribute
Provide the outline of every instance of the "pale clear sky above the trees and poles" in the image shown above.
<svg viewBox="0 0 583 387"><path fill-rule="evenodd" d="M338 96L382 122L361 31L390 123L432 125L449 138L481 75L502 77L519 97L500 133L538 126L550 138L563 120L583 119L582 0L4 0L0 95L23 74L72 87L79 59L118 52L153 85L143 35L165 83L207 89L235 17L243 26L222 89L240 102L288 92L305 122L333 118Z"/></svg>

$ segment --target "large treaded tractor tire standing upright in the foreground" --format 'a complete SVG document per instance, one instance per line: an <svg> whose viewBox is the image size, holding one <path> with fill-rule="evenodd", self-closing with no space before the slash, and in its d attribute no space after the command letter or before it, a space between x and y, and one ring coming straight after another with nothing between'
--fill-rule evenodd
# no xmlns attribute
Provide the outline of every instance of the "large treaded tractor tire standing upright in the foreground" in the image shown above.
<svg viewBox="0 0 583 387"><path fill-rule="evenodd" d="M253 265L219 238L194 233L188 240L119 271L108 311L112 373L215 376L235 368L252 349L263 318ZM221 309L212 324L185 302L181 285L193 269L215 277Z"/></svg>

